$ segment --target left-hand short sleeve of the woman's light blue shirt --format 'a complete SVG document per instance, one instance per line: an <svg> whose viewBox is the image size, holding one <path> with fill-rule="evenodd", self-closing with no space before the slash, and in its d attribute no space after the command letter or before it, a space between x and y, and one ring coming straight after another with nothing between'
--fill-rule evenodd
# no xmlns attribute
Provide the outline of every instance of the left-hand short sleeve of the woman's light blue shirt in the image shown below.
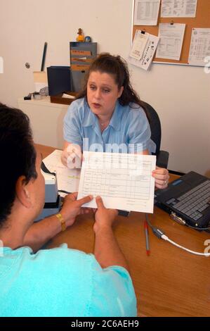
<svg viewBox="0 0 210 331"><path fill-rule="evenodd" d="M73 101L67 109L63 120L63 137L67 142L82 145L81 118L79 118L79 104Z"/></svg>

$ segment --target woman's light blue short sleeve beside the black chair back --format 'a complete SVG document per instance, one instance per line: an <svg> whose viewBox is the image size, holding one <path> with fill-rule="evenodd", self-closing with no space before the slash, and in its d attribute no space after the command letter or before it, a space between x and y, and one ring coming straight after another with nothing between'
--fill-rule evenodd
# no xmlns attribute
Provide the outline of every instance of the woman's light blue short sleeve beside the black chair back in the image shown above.
<svg viewBox="0 0 210 331"><path fill-rule="evenodd" d="M155 153L156 145L152 142L150 124L143 108L131 108L129 113L129 153L138 153L148 149Z"/></svg>

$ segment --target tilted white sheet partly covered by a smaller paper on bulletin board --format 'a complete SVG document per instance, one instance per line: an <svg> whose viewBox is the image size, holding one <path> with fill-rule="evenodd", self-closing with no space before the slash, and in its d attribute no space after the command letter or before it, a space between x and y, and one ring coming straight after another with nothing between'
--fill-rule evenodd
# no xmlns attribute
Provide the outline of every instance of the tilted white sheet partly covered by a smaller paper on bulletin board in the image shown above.
<svg viewBox="0 0 210 331"><path fill-rule="evenodd" d="M136 33L138 31L140 30L136 30ZM154 57L155 51L157 49L157 44L159 42L159 37L150 35L149 33L147 35L148 35L147 44L143 51L143 56L140 58L140 60L138 61L135 58L131 58L130 56L128 58L129 63L133 65L137 65L139 68L142 68L144 70L148 70L150 68L150 64L152 63L152 58Z"/></svg>

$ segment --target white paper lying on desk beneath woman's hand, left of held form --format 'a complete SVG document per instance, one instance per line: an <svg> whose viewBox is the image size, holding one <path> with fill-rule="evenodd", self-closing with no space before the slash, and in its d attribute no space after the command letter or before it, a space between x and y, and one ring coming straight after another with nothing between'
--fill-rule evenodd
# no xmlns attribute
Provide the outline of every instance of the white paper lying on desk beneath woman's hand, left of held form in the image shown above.
<svg viewBox="0 0 210 331"><path fill-rule="evenodd" d="M46 168L57 175L58 191L77 192L79 187L80 169L69 169L60 161L62 151L55 149L53 153L44 158ZM59 192L61 196L67 193Z"/></svg>

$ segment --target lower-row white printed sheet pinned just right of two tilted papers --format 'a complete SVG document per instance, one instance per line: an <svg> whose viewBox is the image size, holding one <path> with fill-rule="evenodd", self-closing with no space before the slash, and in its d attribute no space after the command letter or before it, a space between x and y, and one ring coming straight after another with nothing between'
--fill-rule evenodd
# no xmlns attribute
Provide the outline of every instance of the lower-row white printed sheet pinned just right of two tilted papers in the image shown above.
<svg viewBox="0 0 210 331"><path fill-rule="evenodd" d="M183 46L185 24L180 23L160 23L159 24L159 44L157 46L157 58L169 58L179 60Z"/></svg>

